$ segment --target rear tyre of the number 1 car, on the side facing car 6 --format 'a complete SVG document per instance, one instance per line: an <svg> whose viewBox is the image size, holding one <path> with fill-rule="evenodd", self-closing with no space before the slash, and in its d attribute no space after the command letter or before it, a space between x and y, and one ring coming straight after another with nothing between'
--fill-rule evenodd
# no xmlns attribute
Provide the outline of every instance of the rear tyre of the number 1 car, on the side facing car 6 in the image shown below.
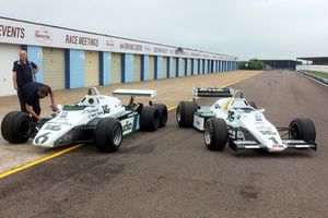
<svg viewBox="0 0 328 218"><path fill-rule="evenodd" d="M176 122L180 128L191 128L194 113L198 110L196 101L180 101L176 109Z"/></svg>

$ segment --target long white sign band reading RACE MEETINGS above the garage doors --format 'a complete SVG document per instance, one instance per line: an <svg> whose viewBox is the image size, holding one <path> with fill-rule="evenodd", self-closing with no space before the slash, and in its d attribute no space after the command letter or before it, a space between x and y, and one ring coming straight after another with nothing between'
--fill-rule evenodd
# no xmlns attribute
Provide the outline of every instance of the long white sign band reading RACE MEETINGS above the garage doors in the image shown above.
<svg viewBox="0 0 328 218"><path fill-rule="evenodd" d="M236 57L179 49L0 17L0 43L150 56L236 60Z"/></svg>

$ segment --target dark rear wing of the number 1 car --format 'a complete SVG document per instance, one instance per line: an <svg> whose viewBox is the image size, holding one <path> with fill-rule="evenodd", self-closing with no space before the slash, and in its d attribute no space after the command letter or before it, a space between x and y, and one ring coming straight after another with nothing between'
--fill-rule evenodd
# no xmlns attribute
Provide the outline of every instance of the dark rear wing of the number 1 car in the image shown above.
<svg viewBox="0 0 328 218"><path fill-rule="evenodd" d="M234 89L232 88L216 88L216 87L194 87L192 98L198 97L233 97Z"/></svg>

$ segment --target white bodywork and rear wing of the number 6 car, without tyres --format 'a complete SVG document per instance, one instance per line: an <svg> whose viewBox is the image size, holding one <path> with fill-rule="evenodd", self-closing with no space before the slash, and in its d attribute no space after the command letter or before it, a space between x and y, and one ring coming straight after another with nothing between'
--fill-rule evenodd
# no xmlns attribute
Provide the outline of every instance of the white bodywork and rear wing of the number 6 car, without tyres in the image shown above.
<svg viewBox="0 0 328 218"><path fill-rule="evenodd" d="M125 90L125 93L120 90L114 90L113 93L155 97L155 94L153 94L152 90ZM96 88L91 88L80 102L72 106L63 106L61 110L57 111L56 117L46 122L38 131L37 135L34 137L33 144L39 147L56 147L58 146L55 144L56 142L58 143L58 141L70 137L69 133L73 128L85 125L95 118L118 118L125 112L126 108L119 99L112 96L99 95ZM132 129L127 128L127 125L131 126L133 125L133 122L134 120L131 117L120 121L124 135L129 134L132 131ZM139 128L138 123L137 125Z"/></svg>

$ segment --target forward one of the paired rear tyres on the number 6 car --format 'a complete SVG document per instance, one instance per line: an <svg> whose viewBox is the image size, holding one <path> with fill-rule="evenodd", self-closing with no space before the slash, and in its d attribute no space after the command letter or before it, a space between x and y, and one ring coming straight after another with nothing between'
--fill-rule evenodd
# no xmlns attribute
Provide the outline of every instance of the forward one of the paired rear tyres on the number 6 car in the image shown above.
<svg viewBox="0 0 328 218"><path fill-rule="evenodd" d="M156 131L160 126L160 111L155 106L144 106L140 113L140 129L142 131Z"/></svg>

